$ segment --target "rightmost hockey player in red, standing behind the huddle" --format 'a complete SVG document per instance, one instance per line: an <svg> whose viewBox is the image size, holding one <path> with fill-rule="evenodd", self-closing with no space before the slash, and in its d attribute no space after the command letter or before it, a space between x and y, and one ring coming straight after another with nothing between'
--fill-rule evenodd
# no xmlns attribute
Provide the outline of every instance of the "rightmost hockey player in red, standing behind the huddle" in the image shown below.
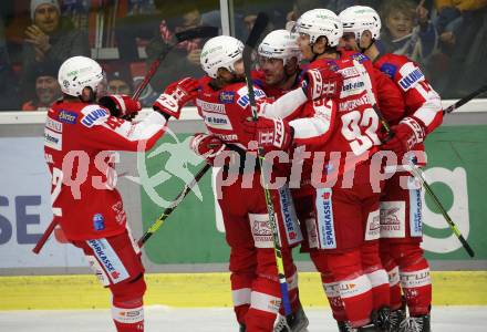
<svg viewBox="0 0 487 332"><path fill-rule="evenodd" d="M350 7L340 18L346 33L346 48L366 54L374 66L396 84L406 106L400 121L388 118L394 137L382 145L383 149L396 153L400 168L386 180L381 198L381 258L390 276L393 330L429 331L432 283L429 266L419 247L423 237L421 188L402 184L402 178L408 178L408 183L414 183L414 178L401 163L407 164L404 155L416 151L419 152L418 165L424 166L423 141L443 121L441 98L416 63L403 55L380 53L376 41L381 19L374 9ZM393 224L398 227L392 227ZM407 320L404 320L401 288L411 315Z"/></svg>

